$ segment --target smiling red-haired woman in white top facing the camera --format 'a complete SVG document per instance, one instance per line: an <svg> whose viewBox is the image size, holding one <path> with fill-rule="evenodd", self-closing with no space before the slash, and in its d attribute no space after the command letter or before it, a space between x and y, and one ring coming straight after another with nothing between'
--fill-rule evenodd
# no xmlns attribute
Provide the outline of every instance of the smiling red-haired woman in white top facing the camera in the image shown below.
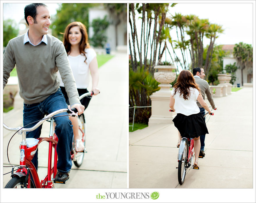
<svg viewBox="0 0 256 203"><path fill-rule="evenodd" d="M90 48L88 43L88 34L83 23L72 22L67 25L63 36L63 44L68 55L79 96L88 93L87 88L89 86L90 73L92 76L92 91L94 95L97 95L99 93L99 89L97 88L99 81L98 63L96 53ZM69 105L63 82L60 83L60 87ZM87 108L89 102L90 98L88 97L81 99L81 104L83 104L85 108ZM79 140L78 121L75 117L70 117L70 120L73 125L74 140L76 142L75 150L77 152L83 151L83 142Z"/></svg>

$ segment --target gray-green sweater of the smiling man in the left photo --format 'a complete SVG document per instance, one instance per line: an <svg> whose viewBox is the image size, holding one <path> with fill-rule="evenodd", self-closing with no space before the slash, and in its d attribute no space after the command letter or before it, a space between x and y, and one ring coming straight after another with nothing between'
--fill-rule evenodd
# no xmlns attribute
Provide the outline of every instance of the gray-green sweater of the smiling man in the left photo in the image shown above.
<svg viewBox="0 0 256 203"><path fill-rule="evenodd" d="M37 46L29 42L24 44L23 39L24 35L15 37L6 47L3 55L3 88L16 64L20 96L24 103L42 102L58 90L60 82L56 72L59 70L70 104L80 104L63 43L51 35L47 35L47 45L43 42Z"/></svg>

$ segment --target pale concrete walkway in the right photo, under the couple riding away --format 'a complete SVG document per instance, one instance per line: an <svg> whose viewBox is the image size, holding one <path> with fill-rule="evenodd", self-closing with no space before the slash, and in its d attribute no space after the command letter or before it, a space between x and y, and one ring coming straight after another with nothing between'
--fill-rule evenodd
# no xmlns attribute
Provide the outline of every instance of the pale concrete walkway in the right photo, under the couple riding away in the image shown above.
<svg viewBox="0 0 256 203"><path fill-rule="evenodd" d="M174 124L129 133L129 188L253 188L253 88L214 102L218 110L207 122L206 155L199 159L200 170L187 171L182 185Z"/></svg>

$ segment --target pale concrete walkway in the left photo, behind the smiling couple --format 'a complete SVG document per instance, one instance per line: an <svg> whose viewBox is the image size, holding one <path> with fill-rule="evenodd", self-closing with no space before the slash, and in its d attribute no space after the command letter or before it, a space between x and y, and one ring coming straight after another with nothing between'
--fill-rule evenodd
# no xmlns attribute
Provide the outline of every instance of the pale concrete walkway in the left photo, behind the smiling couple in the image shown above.
<svg viewBox="0 0 256 203"><path fill-rule="evenodd" d="M73 164L70 179L66 184L55 184L56 188L127 188L128 58L126 52L111 54L115 56L99 68L100 94L93 96L85 111L87 153L83 164L79 168ZM10 127L22 126L22 112L23 108L18 108L4 113L3 122ZM12 135L3 129L4 166L8 165L6 148ZM49 122L44 122L41 137L49 137ZM8 155L13 165L19 165L19 142L17 134L10 142ZM47 173L48 142L39 145L38 153L42 179ZM4 167L3 173L10 170ZM3 187L9 180L10 174L3 176Z"/></svg>

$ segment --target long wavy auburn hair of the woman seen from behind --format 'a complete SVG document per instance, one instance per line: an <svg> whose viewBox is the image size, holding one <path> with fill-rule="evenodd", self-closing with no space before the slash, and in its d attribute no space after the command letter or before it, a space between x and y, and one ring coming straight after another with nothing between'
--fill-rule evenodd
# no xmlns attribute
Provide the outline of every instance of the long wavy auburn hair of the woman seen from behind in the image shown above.
<svg viewBox="0 0 256 203"><path fill-rule="evenodd" d="M200 88L198 85L195 83L195 79L193 77L193 74L189 70L182 70L179 73L179 76L177 78L177 82L173 86L175 88L175 93L173 96L176 94L177 90L179 89L179 96L183 94L183 98L189 99L190 97L190 87L193 87L197 89L200 93Z"/></svg>

